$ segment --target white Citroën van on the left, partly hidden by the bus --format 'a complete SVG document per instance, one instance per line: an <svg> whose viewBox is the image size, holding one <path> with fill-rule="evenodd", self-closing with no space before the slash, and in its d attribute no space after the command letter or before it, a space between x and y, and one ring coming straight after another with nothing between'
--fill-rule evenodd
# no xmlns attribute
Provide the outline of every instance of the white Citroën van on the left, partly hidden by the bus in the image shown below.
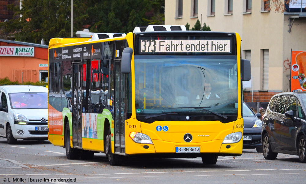
<svg viewBox="0 0 306 184"><path fill-rule="evenodd" d="M0 137L48 139L48 90L43 86L0 86Z"/></svg>

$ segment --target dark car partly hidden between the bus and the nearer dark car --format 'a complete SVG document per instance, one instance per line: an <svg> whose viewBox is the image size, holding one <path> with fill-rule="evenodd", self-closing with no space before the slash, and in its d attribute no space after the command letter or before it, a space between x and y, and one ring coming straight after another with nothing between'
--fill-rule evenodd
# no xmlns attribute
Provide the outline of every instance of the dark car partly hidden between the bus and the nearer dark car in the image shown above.
<svg viewBox="0 0 306 184"><path fill-rule="evenodd" d="M253 110L243 102L243 149L254 149L261 153L261 126L262 121L259 119L261 114L255 114Z"/></svg>

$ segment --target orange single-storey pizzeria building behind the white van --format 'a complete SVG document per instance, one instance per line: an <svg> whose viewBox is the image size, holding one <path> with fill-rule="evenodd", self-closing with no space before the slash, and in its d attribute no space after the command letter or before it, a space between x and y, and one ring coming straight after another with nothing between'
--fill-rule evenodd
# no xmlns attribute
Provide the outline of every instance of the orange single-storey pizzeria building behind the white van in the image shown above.
<svg viewBox="0 0 306 184"><path fill-rule="evenodd" d="M11 81L48 80L48 46L0 39L0 78Z"/></svg>

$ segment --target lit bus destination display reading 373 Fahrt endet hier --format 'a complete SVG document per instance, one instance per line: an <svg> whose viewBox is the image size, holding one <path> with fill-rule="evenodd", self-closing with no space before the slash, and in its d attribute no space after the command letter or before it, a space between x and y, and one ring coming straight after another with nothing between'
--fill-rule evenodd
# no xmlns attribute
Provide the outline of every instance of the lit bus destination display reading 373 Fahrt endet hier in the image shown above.
<svg viewBox="0 0 306 184"><path fill-rule="evenodd" d="M207 52L230 53L231 40L152 40L140 39L139 53Z"/></svg>

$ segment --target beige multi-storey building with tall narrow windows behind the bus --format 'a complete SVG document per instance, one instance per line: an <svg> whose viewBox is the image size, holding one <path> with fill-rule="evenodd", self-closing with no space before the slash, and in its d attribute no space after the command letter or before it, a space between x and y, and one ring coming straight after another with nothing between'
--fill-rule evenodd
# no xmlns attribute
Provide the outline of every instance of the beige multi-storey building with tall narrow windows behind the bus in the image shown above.
<svg viewBox="0 0 306 184"><path fill-rule="evenodd" d="M241 57L251 61L252 74L252 87L244 85L244 101L268 102L290 91L291 51L306 50L305 2L297 0L278 13L263 0L166 0L165 24L192 28L199 19L211 31L239 33Z"/></svg>

